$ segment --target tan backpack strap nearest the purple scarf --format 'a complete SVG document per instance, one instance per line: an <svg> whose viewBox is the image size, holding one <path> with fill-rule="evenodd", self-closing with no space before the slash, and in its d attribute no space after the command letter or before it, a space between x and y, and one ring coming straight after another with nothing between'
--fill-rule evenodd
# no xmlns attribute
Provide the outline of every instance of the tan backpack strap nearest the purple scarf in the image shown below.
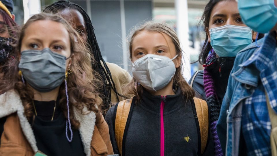
<svg viewBox="0 0 277 156"><path fill-rule="evenodd" d="M197 118L198 118L198 122L199 122L199 128L200 128L201 154L203 154L206 144L207 144L208 132L209 132L208 105L207 105L206 101L198 99L196 97L194 97L193 100L194 100Z"/></svg>

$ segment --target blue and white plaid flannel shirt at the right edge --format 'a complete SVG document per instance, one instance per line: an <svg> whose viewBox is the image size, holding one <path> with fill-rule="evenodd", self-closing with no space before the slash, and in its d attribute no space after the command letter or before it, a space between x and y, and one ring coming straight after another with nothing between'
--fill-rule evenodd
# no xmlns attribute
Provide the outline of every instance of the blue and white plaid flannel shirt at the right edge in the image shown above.
<svg viewBox="0 0 277 156"><path fill-rule="evenodd" d="M260 71L260 82L254 93L245 99L242 108L242 133L247 146L248 156L271 155L270 133L271 122L267 109L265 91L269 96L270 106L277 112L277 50L276 38L272 38L272 47L275 51L258 51L249 62Z"/></svg>

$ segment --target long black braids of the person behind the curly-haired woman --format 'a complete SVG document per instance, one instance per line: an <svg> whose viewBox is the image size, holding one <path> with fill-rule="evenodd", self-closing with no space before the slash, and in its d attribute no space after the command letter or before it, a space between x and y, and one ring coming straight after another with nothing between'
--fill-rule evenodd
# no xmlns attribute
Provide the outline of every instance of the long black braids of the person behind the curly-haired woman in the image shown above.
<svg viewBox="0 0 277 156"><path fill-rule="evenodd" d="M81 8L79 5L72 3L70 1L64 1L64 0L57 1L51 5L48 5L43 10L43 12L49 12L49 13L55 14L66 8L79 11L83 15L83 18L85 20L86 30L87 30L87 38L88 38L87 42L91 49L91 55L94 57L94 59L96 61L95 63L92 61L91 64L92 64L93 69L101 76L104 86L105 86L104 89L101 91L104 96L104 97L102 97L102 99L103 99L102 110L105 111L105 110L109 109L109 107L111 105L111 89L115 92L117 101L119 101L118 96L121 96L121 97L124 97L124 96L119 94L115 88L115 83L112 79L111 72L101 55L100 48L99 48L97 40L96 40L96 36L94 34L94 28L92 26L89 16L85 12L85 10L83 10L83 8ZM104 67L101 64L101 61L103 62ZM108 80L108 83L106 80Z"/></svg>

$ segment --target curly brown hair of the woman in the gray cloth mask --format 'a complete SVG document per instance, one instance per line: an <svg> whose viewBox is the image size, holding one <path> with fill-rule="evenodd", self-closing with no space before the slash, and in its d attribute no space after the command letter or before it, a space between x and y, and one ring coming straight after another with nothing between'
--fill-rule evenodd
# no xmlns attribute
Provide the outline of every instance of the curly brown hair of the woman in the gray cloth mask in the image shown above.
<svg viewBox="0 0 277 156"><path fill-rule="evenodd" d="M18 44L16 52L18 53L19 57L22 40L25 36L25 30L32 23L40 20L50 20L61 23L65 26L69 33L70 49L71 53L74 54L72 56L72 64L70 66L72 73L68 75L67 78L69 107L71 112L70 122L75 129L78 129L80 123L74 118L73 107L76 107L76 109L80 110L82 113L84 113L82 111L84 107L87 107L89 112L92 111L98 113L100 111L100 107L98 107L100 101L98 99L97 90L99 90L102 86L102 82L98 79L99 76L96 74L96 72L94 72L91 68L91 60L93 60L93 58L88 57L89 49L87 48L86 44L82 41L78 33L71 27L71 25L61 16L56 14L35 14L25 23L20 31L17 42ZM19 62L11 67L14 68L14 71L16 71L13 73L15 81L11 82L8 79L6 79L6 81L1 81L0 92L6 92L11 89L16 90L20 96L20 99L22 100L25 115L27 116L28 120L31 120L31 118L34 116L34 108L32 104L34 93L33 89L29 85L25 85L23 81L21 81L21 77L18 75L18 63ZM59 97L59 105L65 115L65 118L67 118L67 101L64 82L59 88Z"/></svg>

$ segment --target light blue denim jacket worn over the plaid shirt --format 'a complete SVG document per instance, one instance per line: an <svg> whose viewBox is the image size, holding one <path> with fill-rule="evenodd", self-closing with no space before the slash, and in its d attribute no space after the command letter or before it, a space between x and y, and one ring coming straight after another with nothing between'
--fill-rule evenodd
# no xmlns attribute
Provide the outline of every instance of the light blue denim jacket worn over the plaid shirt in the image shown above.
<svg viewBox="0 0 277 156"><path fill-rule="evenodd" d="M245 99L251 97L256 88L263 86L263 83L259 83L261 82L260 74L262 73L261 68L266 69L265 64L267 62L261 64L261 67L257 65L259 53L262 53L262 51L264 53L276 52L275 32L269 33L265 38L258 40L257 43L250 44L237 54L217 124L220 144L222 151L225 151L225 155L239 155L242 108ZM254 63L255 61L256 63ZM273 107L273 109L277 110L276 107Z"/></svg>

